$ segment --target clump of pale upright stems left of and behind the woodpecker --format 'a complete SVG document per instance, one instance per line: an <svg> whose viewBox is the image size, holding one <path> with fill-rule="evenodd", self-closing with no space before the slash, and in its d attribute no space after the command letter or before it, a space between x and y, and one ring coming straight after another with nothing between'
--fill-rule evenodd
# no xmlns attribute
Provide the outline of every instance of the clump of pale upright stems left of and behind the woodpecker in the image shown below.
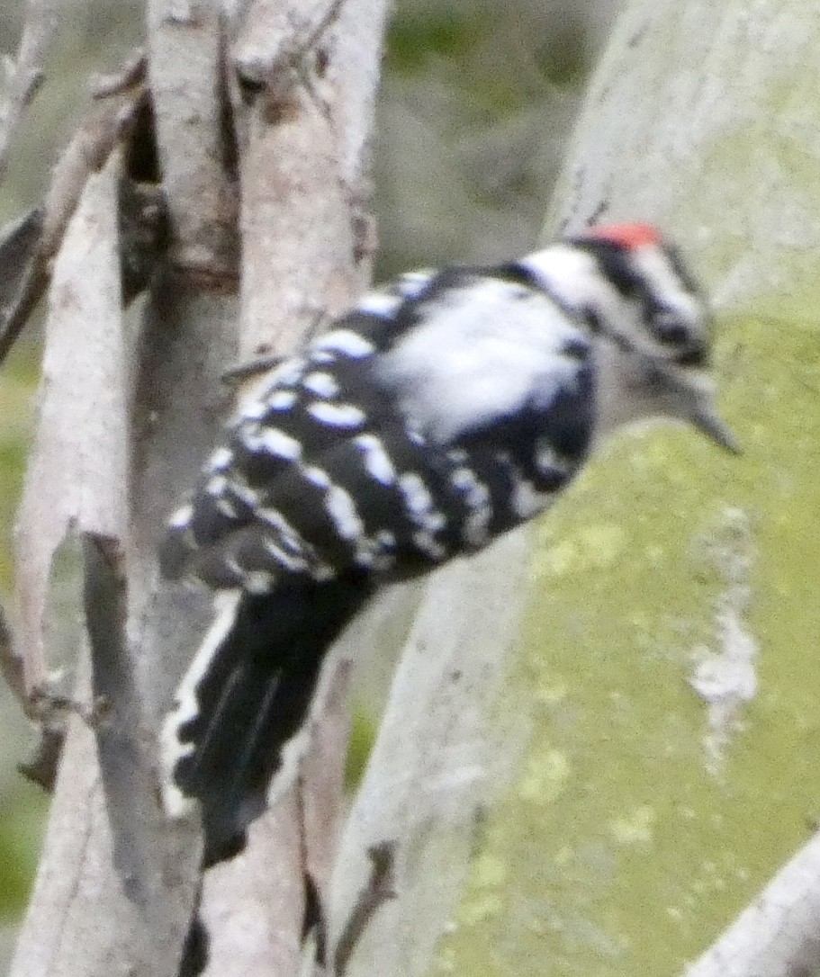
<svg viewBox="0 0 820 977"><path fill-rule="evenodd" d="M152 137L140 130L122 160L114 152L88 179L52 288L19 530L22 652L29 688L47 685L55 561L76 539L76 696L93 697L93 728L67 722L14 977L175 975L197 909L206 973L298 969L305 873L323 884L335 841L346 672L326 682L335 696L315 738L319 772L309 765L245 854L200 892L198 829L159 810L155 731L209 602L159 578L155 547L229 413L226 367L289 352L367 281L384 15L382 3L260 2L228 22L215 2L149 4ZM134 141L151 138L170 241L148 301L126 319L117 191L134 176ZM151 158L150 145L140 149Z"/></svg>

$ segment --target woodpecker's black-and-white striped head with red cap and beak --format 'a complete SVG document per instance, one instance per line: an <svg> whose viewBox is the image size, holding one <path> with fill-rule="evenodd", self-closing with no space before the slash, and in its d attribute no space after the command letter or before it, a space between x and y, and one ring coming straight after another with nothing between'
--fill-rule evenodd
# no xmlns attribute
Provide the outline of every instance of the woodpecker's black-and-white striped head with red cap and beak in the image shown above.
<svg viewBox="0 0 820 977"><path fill-rule="evenodd" d="M521 264L595 341L599 430L653 416L688 421L736 450L707 373L711 316L677 251L646 224L589 228Z"/></svg>

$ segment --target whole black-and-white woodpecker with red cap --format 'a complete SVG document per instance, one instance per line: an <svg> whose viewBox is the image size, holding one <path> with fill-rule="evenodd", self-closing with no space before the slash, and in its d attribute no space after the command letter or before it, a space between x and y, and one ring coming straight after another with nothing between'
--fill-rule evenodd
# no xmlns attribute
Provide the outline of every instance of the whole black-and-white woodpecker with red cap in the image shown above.
<svg viewBox="0 0 820 977"><path fill-rule="evenodd" d="M734 449L709 352L701 292L633 224L400 276L275 369L161 553L221 595L162 733L166 807L200 801L206 864L242 847L325 651L380 584L537 515L620 425L676 418Z"/></svg>

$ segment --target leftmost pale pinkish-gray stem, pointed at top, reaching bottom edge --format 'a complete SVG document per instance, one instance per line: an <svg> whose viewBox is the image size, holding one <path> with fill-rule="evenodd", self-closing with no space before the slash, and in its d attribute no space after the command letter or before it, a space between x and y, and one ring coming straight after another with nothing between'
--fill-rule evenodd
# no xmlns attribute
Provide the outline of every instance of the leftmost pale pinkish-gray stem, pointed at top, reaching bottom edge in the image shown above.
<svg viewBox="0 0 820 977"><path fill-rule="evenodd" d="M41 674L29 680L47 690L58 664L45 641L54 557L75 533L85 539L93 677L81 680L75 695L88 700L94 690L108 701L94 730L101 767L84 721L69 718L46 850L13 973L71 974L81 966L84 973L125 974L134 961L146 973L161 973L179 956L175 938L179 943L184 932L166 898L169 889L183 887L169 885L169 871L173 875L184 865L181 857L168 858L180 832L160 823L142 704L132 694L133 682L122 681L128 671L118 563L130 546L132 385L116 248L118 172L114 154L86 181L56 259L46 330L47 394L18 539L20 643L26 650L41 649L26 663L40 662ZM98 604L103 598L108 610ZM82 631L75 640L85 645ZM82 659L80 675L87 676ZM190 884L196 884L194 875ZM123 949L121 956L111 957L113 945Z"/></svg>

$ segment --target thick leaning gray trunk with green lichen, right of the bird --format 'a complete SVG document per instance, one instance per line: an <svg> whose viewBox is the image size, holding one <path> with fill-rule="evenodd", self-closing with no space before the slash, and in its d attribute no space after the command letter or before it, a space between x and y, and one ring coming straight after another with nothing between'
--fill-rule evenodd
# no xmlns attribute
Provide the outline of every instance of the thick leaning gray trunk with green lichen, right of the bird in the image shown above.
<svg viewBox="0 0 820 977"><path fill-rule="evenodd" d="M619 21L547 228L678 240L744 455L621 438L534 531L431 581L336 869L344 903L367 843L402 839L350 974L679 972L808 837L818 43L799 0L637 0ZM813 972L810 877L787 889L797 919L758 914L756 954L735 941L703 972Z"/></svg>

